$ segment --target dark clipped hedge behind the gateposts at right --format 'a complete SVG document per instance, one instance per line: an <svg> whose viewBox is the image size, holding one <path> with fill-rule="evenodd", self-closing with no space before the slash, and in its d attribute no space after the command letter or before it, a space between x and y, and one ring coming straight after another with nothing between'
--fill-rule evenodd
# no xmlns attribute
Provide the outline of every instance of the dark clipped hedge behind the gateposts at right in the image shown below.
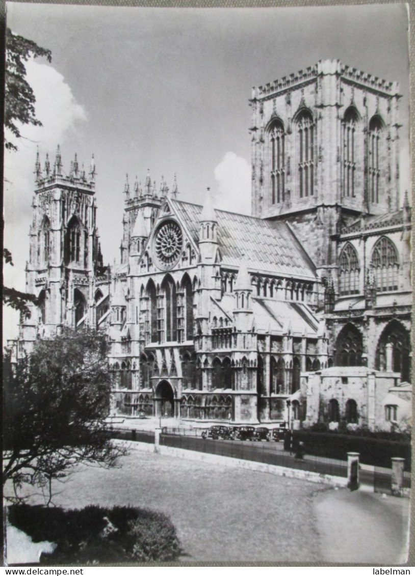
<svg viewBox="0 0 415 576"><path fill-rule="evenodd" d="M411 446L405 442L310 430L295 430L293 442L303 442L306 454L337 460L347 460L348 452L359 452L361 463L385 468L398 456L405 458L405 470L411 469Z"/></svg>

